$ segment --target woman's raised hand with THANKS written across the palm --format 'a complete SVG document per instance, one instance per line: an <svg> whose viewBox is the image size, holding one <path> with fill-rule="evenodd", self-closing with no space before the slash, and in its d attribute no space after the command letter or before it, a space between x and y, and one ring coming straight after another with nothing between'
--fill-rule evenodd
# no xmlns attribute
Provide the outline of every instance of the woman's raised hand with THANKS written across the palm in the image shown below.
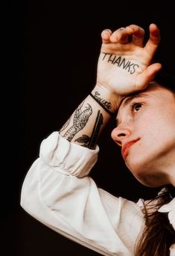
<svg viewBox="0 0 175 256"><path fill-rule="evenodd" d="M124 96L147 87L161 64L150 64L159 46L159 28L150 24L150 37L144 41L144 29L138 25L102 31L97 85L112 94Z"/></svg>

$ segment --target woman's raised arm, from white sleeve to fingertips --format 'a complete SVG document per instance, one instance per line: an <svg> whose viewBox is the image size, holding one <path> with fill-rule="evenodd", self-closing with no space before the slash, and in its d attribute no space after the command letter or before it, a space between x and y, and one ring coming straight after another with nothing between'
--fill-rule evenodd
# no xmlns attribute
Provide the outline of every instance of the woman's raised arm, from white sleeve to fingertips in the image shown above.
<svg viewBox="0 0 175 256"><path fill-rule="evenodd" d="M89 171L98 159L97 138L121 99L145 88L161 67L150 65L159 30L150 25L145 46L144 31L136 25L105 30L101 37L95 88L61 135L52 132L42 141L22 186L21 205L39 222L101 255L130 256L144 221L140 207L99 189Z"/></svg>

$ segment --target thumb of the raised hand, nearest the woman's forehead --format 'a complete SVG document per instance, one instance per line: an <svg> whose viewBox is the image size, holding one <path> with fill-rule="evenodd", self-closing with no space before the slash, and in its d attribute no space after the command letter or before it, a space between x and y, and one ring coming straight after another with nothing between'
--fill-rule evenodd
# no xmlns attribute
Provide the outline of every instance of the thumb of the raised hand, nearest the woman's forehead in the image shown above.
<svg viewBox="0 0 175 256"><path fill-rule="evenodd" d="M161 70L162 65L160 63L151 64L138 76L138 80L136 82L136 90L144 90L147 88L147 85L154 79L156 73Z"/></svg>

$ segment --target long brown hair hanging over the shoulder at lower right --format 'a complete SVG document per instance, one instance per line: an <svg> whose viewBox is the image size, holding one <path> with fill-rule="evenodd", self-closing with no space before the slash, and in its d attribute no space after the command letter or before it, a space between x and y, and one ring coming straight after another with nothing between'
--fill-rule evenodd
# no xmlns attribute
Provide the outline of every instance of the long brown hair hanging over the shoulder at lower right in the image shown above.
<svg viewBox="0 0 175 256"><path fill-rule="evenodd" d="M172 195L170 191L173 191ZM158 209L163 204L168 204L173 194L174 187L169 186L168 192L144 204L145 228L136 243L136 256L170 255L170 247L175 243L175 231L169 222L168 213L159 213Z"/></svg>

